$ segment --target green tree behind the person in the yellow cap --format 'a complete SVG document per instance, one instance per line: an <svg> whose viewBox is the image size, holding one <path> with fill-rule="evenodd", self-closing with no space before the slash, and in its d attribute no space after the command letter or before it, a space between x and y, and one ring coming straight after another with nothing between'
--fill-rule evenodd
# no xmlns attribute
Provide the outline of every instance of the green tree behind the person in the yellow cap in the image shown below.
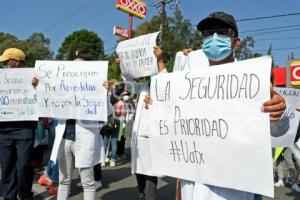
<svg viewBox="0 0 300 200"><path fill-rule="evenodd" d="M28 39L20 40L8 33L0 33L0 51L7 48L21 49L25 57L25 66L34 67L36 60L50 60L53 52L50 50L50 40L42 33L32 33Z"/></svg>

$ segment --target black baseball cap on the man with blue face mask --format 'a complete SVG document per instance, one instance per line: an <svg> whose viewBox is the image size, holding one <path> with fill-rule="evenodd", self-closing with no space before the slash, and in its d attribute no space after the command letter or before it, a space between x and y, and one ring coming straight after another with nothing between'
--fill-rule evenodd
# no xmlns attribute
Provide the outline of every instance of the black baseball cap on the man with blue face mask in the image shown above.
<svg viewBox="0 0 300 200"><path fill-rule="evenodd" d="M211 30L215 28L231 28L238 37L238 28L234 17L225 12L213 12L197 25L199 31Z"/></svg>

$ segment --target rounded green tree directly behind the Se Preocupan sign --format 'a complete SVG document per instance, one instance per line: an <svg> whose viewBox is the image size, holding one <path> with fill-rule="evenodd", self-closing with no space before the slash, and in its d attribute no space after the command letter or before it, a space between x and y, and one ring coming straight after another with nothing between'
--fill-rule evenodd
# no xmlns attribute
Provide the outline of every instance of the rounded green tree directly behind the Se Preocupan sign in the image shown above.
<svg viewBox="0 0 300 200"><path fill-rule="evenodd" d="M104 48L101 38L97 33L86 29L74 31L65 38L58 49L56 59L72 60L76 52L87 54L95 60L104 59Z"/></svg>

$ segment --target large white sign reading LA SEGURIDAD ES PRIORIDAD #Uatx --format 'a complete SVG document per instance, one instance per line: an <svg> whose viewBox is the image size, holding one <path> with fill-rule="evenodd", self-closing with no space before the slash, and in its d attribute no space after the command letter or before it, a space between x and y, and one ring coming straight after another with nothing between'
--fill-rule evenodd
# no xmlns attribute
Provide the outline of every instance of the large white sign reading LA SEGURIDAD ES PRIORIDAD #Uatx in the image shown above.
<svg viewBox="0 0 300 200"><path fill-rule="evenodd" d="M152 77L151 171L272 197L270 121L260 110L270 70L261 57Z"/></svg>

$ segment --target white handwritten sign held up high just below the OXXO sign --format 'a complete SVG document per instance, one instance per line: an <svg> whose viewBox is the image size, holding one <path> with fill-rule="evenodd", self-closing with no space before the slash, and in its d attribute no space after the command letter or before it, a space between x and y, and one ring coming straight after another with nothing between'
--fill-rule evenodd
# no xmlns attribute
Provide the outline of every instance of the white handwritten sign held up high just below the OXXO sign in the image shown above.
<svg viewBox="0 0 300 200"><path fill-rule="evenodd" d="M153 49L158 34L159 32L142 35L118 44L116 52L125 77L140 78L158 73Z"/></svg>

